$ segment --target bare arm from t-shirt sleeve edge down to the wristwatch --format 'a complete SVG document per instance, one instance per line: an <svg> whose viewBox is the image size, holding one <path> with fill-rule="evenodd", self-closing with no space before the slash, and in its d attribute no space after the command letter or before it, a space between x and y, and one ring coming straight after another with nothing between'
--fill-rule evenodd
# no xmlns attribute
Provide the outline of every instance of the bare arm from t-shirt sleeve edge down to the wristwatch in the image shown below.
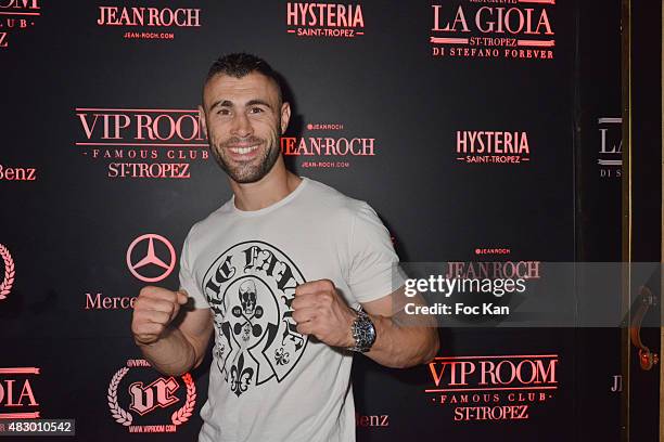
<svg viewBox="0 0 664 442"><path fill-rule="evenodd" d="M381 365L410 367L431 361L438 352L435 320L406 314L405 302L423 304L419 297L406 301L403 287L386 297L362 303L376 332L371 351L365 354Z"/></svg>

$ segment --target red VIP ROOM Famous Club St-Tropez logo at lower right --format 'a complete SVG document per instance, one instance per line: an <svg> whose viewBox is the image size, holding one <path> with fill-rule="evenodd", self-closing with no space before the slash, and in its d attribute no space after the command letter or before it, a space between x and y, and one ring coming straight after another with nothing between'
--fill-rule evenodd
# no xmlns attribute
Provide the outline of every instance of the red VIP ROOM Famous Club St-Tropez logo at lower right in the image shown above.
<svg viewBox="0 0 664 442"><path fill-rule="evenodd" d="M455 421L529 419L556 396L559 362L558 354L435 358L424 393Z"/></svg>

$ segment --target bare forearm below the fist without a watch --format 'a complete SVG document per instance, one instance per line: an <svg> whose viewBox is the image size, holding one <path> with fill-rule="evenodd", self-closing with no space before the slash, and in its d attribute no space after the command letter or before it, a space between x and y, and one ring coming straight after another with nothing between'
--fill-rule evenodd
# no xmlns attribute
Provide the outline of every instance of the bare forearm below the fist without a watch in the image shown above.
<svg viewBox="0 0 664 442"><path fill-rule="evenodd" d="M152 366L165 375L182 375L196 364L194 347L178 328L170 327L159 340L151 344L137 344Z"/></svg>

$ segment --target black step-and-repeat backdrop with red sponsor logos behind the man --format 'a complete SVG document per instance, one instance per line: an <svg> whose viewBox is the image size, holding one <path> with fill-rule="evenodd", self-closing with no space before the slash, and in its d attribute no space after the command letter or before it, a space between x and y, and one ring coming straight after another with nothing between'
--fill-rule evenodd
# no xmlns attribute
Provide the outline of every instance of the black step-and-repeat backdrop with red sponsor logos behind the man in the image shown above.
<svg viewBox="0 0 664 442"><path fill-rule="evenodd" d="M241 51L284 79L289 167L367 200L403 261L620 259L618 1L0 0L0 425L195 440L210 358L161 375L131 309L231 196L196 106ZM355 358L359 441L617 440L615 329L439 333L426 365Z"/></svg>

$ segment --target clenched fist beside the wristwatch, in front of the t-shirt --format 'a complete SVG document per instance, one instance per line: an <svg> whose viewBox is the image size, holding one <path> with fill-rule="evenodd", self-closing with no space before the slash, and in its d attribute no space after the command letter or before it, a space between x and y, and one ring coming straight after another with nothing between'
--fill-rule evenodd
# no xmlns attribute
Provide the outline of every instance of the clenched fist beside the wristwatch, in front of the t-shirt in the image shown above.
<svg viewBox="0 0 664 442"><path fill-rule="evenodd" d="M355 346L350 327L357 314L329 280L311 281L295 288L291 303L297 332L314 335L328 346Z"/></svg>

